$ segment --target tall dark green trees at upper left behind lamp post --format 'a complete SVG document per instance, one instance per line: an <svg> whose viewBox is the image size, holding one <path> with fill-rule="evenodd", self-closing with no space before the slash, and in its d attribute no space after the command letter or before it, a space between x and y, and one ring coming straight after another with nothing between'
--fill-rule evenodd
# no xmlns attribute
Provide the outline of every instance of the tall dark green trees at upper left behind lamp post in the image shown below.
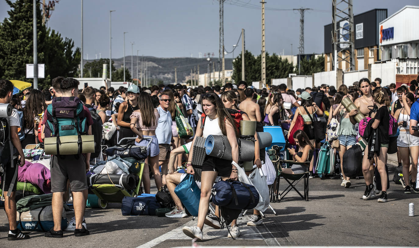
<svg viewBox="0 0 419 248"><path fill-rule="evenodd" d="M0 78L26 79L26 64L33 63L33 1L5 0L10 6L9 17L0 23ZM42 25L40 3L37 4L38 63L45 64L45 79L38 88L46 88L57 76L74 77L80 62L80 49L56 31Z"/></svg>

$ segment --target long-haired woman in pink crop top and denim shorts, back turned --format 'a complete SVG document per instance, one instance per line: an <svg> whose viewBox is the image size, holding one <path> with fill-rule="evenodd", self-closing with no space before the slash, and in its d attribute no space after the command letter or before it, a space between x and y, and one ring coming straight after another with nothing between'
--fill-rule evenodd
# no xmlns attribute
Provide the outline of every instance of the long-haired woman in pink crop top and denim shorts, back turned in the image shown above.
<svg viewBox="0 0 419 248"><path fill-rule="evenodd" d="M140 109L132 112L130 116L130 126L132 132L137 134L135 145L147 146L150 140L144 138L152 139L150 146L147 147L146 163L150 164L151 168L153 168L152 173L154 176L154 181L156 183L157 189L160 189L163 186L163 181L158 166L160 148L158 146L158 140L155 131L160 114L158 113L158 110L154 108L153 103L151 102L150 94L142 92L140 93L140 98L141 101L138 102ZM148 165L144 167L144 171L142 172L142 181L145 193L150 194L150 173Z"/></svg>

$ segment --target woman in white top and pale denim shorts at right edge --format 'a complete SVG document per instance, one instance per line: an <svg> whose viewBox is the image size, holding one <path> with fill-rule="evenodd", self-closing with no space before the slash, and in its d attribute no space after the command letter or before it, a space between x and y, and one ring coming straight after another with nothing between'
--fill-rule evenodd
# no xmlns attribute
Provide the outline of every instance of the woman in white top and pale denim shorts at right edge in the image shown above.
<svg viewBox="0 0 419 248"><path fill-rule="evenodd" d="M413 136L409 133L410 126L410 108L415 102L412 93L402 94L403 107L396 110L394 118L397 120L400 134L397 137L397 147L400 152L400 157L403 165L403 181L405 183L404 194L410 194L410 188L415 193L419 193L416 189L416 174L417 163L419 155L419 137ZM411 176L411 180L409 179Z"/></svg>

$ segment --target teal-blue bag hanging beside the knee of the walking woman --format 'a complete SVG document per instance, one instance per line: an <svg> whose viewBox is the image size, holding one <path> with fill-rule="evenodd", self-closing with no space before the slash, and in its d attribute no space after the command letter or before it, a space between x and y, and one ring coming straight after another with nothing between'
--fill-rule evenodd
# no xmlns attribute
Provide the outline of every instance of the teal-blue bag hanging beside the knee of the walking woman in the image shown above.
<svg viewBox="0 0 419 248"><path fill-rule="evenodd" d="M201 190L195 182L194 176L187 174L178 186L176 186L175 194L192 216L198 216Z"/></svg>

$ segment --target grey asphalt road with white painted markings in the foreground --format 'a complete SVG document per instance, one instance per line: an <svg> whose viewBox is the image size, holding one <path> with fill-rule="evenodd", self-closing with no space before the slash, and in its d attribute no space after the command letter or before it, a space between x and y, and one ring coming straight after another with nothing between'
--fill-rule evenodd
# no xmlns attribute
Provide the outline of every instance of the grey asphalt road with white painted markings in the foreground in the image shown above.
<svg viewBox="0 0 419 248"><path fill-rule="evenodd" d="M389 174L393 178L395 156L390 155ZM388 202L362 200L363 179L352 179L345 189L340 179L309 180L309 201L291 191L279 203L271 203L277 216L266 211L264 224L247 227L248 215L238 220L242 236L226 238L226 229L204 227L204 246L264 245L419 245L419 194L403 194L401 185L391 181ZM284 183L285 181L282 181ZM301 183L301 182L300 182ZM282 184L281 188L284 188ZM297 189L302 189L299 184ZM152 191L156 189L152 189ZM409 217L409 203L416 212ZM86 209L86 222L91 235L75 237L64 232L64 238L45 238L44 233L30 233L31 239L8 241L7 218L0 215L0 247L178 247L191 246L191 239L181 231L184 225L196 225L191 217L171 219L155 216L122 216L121 204L106 209ZM70 220L71 215L67 218Z"/></svg>

